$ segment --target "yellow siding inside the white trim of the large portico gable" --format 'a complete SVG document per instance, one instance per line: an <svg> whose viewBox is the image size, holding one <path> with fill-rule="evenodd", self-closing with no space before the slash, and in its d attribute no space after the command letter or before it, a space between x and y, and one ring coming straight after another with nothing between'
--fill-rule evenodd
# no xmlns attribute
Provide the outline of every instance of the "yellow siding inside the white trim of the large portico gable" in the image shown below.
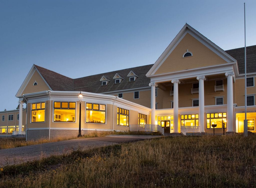
<svg viewBox="0 0 256 188"><path fill-rule="evenodd" d="M183 58L183 54L187 51L187 49L193 54L193 56ZM187 33L175 47L172 53L165 59L155 74L220 65L225 63L227 63L225 60Z"/></svg>

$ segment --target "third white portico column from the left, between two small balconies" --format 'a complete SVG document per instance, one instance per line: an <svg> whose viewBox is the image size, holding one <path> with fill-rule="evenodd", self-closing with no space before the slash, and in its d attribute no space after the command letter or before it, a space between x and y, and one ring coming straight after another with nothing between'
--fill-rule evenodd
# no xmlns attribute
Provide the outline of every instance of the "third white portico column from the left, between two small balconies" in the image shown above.
<svg viewBox="0 0 256 188"><path fill-rule="evenodd" d="M199 80L199 126L201 132L205 132L205 89L204 80L205 76L198 76L196 78Z"/></svg>

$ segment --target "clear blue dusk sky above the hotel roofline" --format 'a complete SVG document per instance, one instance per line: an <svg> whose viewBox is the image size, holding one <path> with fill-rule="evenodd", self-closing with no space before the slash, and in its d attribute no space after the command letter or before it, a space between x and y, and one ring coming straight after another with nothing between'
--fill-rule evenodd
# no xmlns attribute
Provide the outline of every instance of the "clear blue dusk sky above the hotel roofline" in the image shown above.
<svg viewBox="0 0 256 188"><path fill-rule="evenodd" d="M256 1L246 2L247 46ZM222 49L244 46L244 1L0 2L0 111L33 64L70 78L153 64L187 22Z"/></svg>

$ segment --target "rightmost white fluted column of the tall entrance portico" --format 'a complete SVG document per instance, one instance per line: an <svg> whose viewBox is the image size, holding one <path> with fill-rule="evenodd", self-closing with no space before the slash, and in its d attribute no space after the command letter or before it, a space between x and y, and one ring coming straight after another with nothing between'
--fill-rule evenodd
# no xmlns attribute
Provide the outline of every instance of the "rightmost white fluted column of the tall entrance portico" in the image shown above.
<svg viewBox="0 0 256 188"><path fill-rule="evenodd" d="M233 128L233 75L234 72L227 72L227 132L234 132Z"/></svg>

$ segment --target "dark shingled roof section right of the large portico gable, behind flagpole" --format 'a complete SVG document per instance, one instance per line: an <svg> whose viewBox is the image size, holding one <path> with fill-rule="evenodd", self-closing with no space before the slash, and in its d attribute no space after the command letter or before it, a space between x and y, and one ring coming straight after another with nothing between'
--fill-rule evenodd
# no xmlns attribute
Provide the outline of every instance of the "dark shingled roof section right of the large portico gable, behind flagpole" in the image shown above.
<svg viewBox="0 0 256 188"><path fill-rule="evenodd" d="M239 73L244 74L244 47L225 52L237 60ZM246 47L246 72L256 72L256 45Z"/></svg>

